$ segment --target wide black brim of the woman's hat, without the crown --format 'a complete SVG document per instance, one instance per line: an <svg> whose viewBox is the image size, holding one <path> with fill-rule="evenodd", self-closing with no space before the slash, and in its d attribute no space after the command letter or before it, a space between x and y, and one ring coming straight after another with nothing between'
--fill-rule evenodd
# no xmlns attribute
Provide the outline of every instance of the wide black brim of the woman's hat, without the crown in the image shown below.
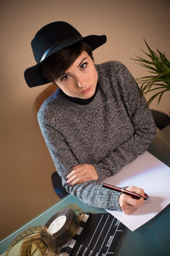
<svg viewBox="0 0 170 256"><path fill-rule="evenodd" d="M59 51L60 49L64 49L67 46L70 46L72 44L76 44L80 41L86 42L88 43L92 49L96 49L99 46L101 46L102 44L105 44L107 38L105 35L102 36L97 36L97 35L90 35L84 38L78 38L75 40L71 40L66 42L65 44L60 44L59 46L55 47L50 54L48 55L48 57L50 55L53 55L54 53L56 53L57 51ZM47 57L47 58L48 58ZM25 79L26 79L26 83L28 84L29 87L35 87L35 86L39 86L42 84L48 84L51 81L49 81L48 79L44 78L42 76L42 72L41 72L41 67L44 61L47 60L44 59L43 61L41 61L40 63L37 63L37 65L33 66L33 67L28 67L24 73Z"/></svg>

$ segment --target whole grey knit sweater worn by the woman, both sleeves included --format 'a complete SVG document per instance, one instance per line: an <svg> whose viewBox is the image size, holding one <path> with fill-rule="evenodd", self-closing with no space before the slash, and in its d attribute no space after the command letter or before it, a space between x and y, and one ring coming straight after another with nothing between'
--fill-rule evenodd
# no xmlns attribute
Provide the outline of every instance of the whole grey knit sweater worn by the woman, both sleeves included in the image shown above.
<svg viewBox="0 0 170 256"><path fill-rule="evenodd" d="M156 136L150 110L139 87L118 61L96 65L99 74L92 102L71 102L60 90L43 102L38 121L65 189L94 207L120 210L120 194L102 188L101 181L142 154ZM99 181L69 186L71 166L94 165Z"/></svg>

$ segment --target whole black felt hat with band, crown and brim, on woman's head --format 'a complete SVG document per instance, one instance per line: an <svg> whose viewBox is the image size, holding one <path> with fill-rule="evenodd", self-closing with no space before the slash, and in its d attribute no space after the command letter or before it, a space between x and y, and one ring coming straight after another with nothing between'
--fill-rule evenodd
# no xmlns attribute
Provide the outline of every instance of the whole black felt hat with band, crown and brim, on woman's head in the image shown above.
<svg viewBox="0 0 170 256"><path fill-rule="evenodd" d="M88 43L94 50L105 44L106 36L90 35L82 37L76 28L65 21L55 21L43 26L31 41L31 48L37 65L27 68L24 73L28 86L34 87L51 82L42 76L42 63L60 49L80 41Z"/></svg>

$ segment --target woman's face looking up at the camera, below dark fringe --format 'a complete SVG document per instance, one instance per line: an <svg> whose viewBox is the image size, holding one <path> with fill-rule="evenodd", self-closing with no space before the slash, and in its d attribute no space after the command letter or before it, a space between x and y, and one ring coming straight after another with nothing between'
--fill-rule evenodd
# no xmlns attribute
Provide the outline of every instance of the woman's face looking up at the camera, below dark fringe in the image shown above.
<svg viewBox="0 0 170 256"><path fill-rule="evenodd" d="M94 61L86 51L82 51L64 75L54 81L67 95L81 99L94 96L98 82L98 73Z"/></svg>

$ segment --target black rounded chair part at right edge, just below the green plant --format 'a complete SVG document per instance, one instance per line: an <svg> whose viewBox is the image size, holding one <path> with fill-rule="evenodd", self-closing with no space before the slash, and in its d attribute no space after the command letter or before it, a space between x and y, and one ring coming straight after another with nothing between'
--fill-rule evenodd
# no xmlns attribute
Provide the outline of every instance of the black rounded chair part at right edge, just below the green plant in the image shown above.
<svg viewBox="0 0 170 256"><path fill-rule="evenodd" d="M151 109L151 113L153 115L156 127L158 129L161 130L165 128L167 125L170 125L170 117L167 115L167 113L163 113L155 109Z"/></svg>

